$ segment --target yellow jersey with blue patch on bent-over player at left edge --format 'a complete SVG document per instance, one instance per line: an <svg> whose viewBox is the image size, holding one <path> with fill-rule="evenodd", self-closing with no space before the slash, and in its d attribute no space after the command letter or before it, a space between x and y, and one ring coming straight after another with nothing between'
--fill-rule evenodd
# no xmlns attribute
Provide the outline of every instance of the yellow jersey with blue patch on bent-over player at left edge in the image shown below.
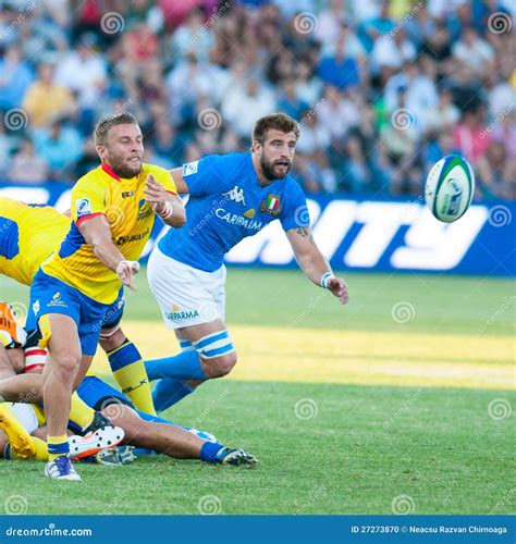
<svg viewBox="0 0 516 544"><path fill-rule="evenodd" d="M27 206L0 197L0 273L25 285L70 230L50 206Z"/></svg>

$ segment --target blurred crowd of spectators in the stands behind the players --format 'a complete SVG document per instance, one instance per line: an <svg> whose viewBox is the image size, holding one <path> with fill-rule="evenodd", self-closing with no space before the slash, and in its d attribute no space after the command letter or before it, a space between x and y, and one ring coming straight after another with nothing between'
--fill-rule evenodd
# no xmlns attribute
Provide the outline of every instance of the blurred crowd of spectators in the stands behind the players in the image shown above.
<svg viewBox="0 0 516 544"><path fill-rule="evenodd" d="M74 183L95 122L131 111L146 161L248 150L300 125L308 193L420 195L441 157L516 198L514 0L4 0L0 180ZM512 11L511 11L512 10Z"/></svg>

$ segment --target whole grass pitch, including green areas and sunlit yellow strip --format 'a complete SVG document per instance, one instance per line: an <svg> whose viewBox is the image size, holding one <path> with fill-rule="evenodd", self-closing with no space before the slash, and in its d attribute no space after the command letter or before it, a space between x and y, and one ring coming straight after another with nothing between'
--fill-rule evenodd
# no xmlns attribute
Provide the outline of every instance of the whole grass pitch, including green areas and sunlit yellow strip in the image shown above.
<svg viewBox="0 0 516 544"><path fill-rule="evenodd" d="M341 307L299 272L231 269L239 361L167 412L253 452L255 470L162 456L81 466L2 461L0 504L27 514L514 512L514 283L347 275ZM23 313L26 289L0 280ZM146 358L176 351L145 275L124 330ZM103 356L95 367L107 372ZM25 509L25 507L24 507Z"/></svg>

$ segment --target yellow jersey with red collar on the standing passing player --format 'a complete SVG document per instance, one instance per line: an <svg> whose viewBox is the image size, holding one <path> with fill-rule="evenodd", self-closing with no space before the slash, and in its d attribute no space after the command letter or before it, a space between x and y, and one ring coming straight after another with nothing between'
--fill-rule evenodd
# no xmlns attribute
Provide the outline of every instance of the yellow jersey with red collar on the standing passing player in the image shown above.
<svg viewBox="0 0 516 544"><path fill-rule="evenodd" d="M172 194L169 171L143 164L131 180L119 177L107 164L83 176L72 189L72 224L63 243L41 265L42 271L102 304L112 304L120 290L118 275L95 256L78 230L83 221L103 215L111 238L127 260L137 261L149 239L156 215L145 200L145 180L152 174Z"/></svg>

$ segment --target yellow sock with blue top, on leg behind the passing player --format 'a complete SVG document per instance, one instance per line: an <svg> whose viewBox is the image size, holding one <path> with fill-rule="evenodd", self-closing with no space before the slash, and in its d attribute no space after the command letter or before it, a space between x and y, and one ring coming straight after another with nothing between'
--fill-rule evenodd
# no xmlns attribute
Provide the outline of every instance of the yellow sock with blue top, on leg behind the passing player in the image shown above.
<svg viewBox="0 0 516 544"><path fill-rule="evenodd" d="M138 410L156 416L149 378L136 346L126 342L110 351L108 359L122 393L131 398Z"/></svg>

